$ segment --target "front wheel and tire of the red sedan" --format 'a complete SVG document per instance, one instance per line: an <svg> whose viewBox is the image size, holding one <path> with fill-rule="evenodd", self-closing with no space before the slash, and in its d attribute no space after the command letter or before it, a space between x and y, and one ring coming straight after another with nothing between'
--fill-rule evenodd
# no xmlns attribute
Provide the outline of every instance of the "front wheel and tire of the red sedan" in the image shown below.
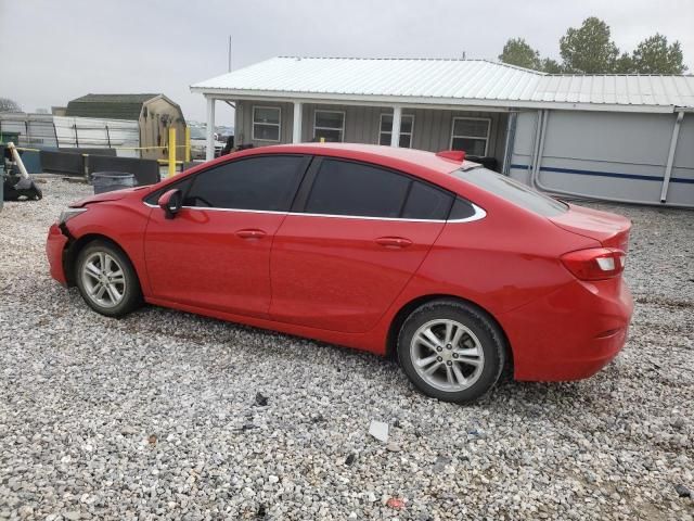
<svg viewBox="0 0 694 521"><path fill-rule="evenodd" d="M82 247L75 263L75 280L87 305L106 317L123 317L142 304L132 263L111 242L97 240Z"/></svg>

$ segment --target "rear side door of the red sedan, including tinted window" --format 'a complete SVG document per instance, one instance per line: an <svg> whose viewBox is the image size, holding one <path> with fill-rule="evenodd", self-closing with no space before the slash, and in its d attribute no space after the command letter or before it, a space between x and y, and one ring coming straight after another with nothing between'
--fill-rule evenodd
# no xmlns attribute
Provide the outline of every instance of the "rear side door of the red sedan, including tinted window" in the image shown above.
<svg viewBox="0 0 694 521"><path fill-rule="evenodd" d="M401 173L314 160L295 211L275 233L271 318L370 330L424 260L452 201Z"/></svg>

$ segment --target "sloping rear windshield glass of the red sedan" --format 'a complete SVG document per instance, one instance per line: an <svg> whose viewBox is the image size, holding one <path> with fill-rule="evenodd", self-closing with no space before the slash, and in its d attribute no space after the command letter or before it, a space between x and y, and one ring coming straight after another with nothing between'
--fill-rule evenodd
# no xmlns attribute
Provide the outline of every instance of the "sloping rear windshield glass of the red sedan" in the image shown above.
<svg viewBox="0 0 694 521"><path fill-rule="evenodd" d="M499 195L516 206L544 217L554 217L568 209L568 205L556 199L537 192L519 181L481 166L466 170L461 168L452 174L459 179Z"/></svg>

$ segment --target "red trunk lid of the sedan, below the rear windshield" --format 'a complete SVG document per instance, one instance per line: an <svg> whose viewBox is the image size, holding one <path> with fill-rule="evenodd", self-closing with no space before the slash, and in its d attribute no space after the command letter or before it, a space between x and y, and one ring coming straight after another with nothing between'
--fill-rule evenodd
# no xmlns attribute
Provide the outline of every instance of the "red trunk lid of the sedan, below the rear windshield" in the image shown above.
<svg viewBox="0 0 694 521"><path fill-rule="evenodd" d="M600 241L605 247L627 250L631 221L621 215L569 204L568 212L551 217L560 228Z"/></svg>

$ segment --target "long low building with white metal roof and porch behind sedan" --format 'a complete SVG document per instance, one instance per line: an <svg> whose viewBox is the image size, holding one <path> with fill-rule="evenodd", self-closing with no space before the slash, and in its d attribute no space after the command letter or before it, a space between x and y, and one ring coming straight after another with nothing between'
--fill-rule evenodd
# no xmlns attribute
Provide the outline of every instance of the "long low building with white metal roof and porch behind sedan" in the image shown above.
<svg viewBox="0 0 694 521"><path fill-rule="evenodd" d="M553 193L694 207L694 76L545 75L484 60L274 58L191 90L207 100L208 129L217 101L234 105L240 145L459 149Z"/></svg>

